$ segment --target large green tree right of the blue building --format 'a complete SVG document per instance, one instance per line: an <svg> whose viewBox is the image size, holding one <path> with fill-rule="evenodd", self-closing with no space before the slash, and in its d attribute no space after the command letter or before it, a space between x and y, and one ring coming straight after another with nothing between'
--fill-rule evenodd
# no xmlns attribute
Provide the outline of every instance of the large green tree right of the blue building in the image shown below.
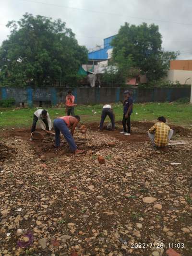
<svg viewBox="0 0 192 256"><path fill-rule="evenodd" d="M155 24L143 23L136 26L125 23L111 45L114 62L122 63L122 53L124 60L131 56L134 67L146 73L149 80L158 80L164 76L168 59L175 59L174 52L164 54L161 47L162 36Z"/></svg>

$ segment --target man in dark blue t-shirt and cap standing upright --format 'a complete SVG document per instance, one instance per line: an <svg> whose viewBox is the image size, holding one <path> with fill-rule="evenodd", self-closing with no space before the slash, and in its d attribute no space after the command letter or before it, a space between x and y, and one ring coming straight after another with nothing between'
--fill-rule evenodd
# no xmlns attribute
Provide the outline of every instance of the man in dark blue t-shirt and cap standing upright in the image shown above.
<svg viewBox="0 0 192 256"><path fill-rule="evenodd" d="M123 101L123 132L120 132L124 135L131 135L131 114L132 114L132 97L130 91L124 92L124 101ZM127 129L126 129L126 123L127 123Z"/></svg>

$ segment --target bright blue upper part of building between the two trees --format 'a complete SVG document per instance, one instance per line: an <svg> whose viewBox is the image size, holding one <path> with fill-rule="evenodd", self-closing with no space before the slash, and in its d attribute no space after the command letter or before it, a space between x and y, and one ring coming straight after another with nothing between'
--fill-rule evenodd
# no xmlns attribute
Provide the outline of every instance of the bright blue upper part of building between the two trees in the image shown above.
<svg viewBox="0 0 192 256"><path fill-rule="evenodd" d="M90 64L96 64L98 61L106 61L109 59L108 50L113 49L110 45L115 36L107 37L104 41L104 48L98 49L88 53L88 60Z"/></svg>

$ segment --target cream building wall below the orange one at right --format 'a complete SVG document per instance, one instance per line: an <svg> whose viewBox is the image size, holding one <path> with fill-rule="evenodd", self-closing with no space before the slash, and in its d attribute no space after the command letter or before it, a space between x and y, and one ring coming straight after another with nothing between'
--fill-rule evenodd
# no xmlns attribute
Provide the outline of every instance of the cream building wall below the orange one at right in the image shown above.
<svg viewBox="0 0 192 256"><path fill-rule="evenodd" d="M168 70L167 77L165 80L170 80L173 83L175 83L176 81L179 81L181 85L184 85L184 84L189 85L191 84L191 81L192 81L191 77L192 77L192 71L189 71L189 70Z"/></svg>

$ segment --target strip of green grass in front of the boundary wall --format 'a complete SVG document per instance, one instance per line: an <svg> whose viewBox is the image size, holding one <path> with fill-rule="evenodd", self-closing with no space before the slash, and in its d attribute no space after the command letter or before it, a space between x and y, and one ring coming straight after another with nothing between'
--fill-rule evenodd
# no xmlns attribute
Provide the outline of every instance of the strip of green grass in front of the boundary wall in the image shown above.
<svg viewBox="0 0 192 256"><path fill-rule="evenodd" d="M81 116L82 122L99 122L101 117L103 104L85 106L79 105L75 108L75 114ZM116 121L122 120L122 104L113 104ZM33 113L36 111L32 109L0 109L0 127L30 127L33 120ZM50 118L54 120L56 117L64 116L65 109L50 108L48 109ZM168 123L178 124L182 126L190 126L192 105L185 103L144 103L134 104L132 121L156 121L158 116L165 116ZM109 118L106 118L109 122Z"/></svg>

